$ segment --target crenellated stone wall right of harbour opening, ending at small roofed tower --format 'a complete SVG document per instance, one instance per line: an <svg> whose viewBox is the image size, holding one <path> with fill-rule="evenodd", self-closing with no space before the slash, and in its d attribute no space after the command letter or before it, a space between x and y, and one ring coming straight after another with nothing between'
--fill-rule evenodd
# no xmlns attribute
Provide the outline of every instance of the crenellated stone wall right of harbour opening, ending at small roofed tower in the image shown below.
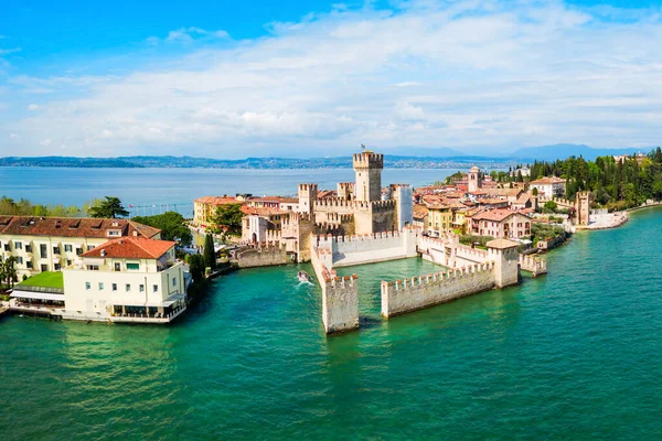
<svg viewBox="0 0 662 441"><path fill-rule="evenodd" d="M492 262L395 282L382 281L382 315L392 318L487 291L494 286Z"/></svg>

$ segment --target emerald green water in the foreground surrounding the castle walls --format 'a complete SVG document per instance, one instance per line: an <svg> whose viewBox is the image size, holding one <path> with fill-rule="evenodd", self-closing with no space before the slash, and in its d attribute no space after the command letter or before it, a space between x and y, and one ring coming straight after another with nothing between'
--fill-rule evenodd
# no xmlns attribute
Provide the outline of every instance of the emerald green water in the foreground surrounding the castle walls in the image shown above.
<svg viewBox="0 0 662 441"><path fill-rule="evenodd" d="M214 282L170 327L0 321L2 439L660 439L662 209L577 234L521 287L327 338L297 267ZM312 272L309 266L303 266ZM372 292L371 292L372 290Z"/></svg>

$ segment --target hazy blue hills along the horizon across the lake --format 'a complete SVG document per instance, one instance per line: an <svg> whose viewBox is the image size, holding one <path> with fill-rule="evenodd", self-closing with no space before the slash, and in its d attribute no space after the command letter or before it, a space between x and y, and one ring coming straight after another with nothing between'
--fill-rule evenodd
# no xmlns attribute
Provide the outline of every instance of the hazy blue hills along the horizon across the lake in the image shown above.
<svg viewBox="0 0 662 441"><path fill-rule="evenodd" d="M583 144L555 144L519 149L512 153L495 155L468 155L453 149L424 149L403 147L384 149L384 166L391 169L458 169L468 164L481 168L508 168L515 163L554 161L572 155L594 160L600 155L632 154L650 149L595 149ZM6 157L0 158L0 166L61 166L61 168L212 168L212 169L344 169L352 166L349 155L338 158L246 158L223 160L193 157L118 157L118 158L75 158L75 157Z"/></svg>

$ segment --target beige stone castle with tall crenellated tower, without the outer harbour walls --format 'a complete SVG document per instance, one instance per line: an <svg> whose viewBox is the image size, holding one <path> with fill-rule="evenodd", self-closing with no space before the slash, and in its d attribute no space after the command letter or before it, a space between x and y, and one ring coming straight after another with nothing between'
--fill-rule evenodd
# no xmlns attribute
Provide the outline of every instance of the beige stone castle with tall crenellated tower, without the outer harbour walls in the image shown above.
<svg viewBox="0 0 662 441"><path fill-rule="evenodd" d="M310 260L310 236L373 235L412 225L413 190L382 189L384 155L365 150L353 155L354 182L340 182L335 195L320 197L314 183L299 184L296 203L243 218L245 243L280 243L297 261Z"/></svg>

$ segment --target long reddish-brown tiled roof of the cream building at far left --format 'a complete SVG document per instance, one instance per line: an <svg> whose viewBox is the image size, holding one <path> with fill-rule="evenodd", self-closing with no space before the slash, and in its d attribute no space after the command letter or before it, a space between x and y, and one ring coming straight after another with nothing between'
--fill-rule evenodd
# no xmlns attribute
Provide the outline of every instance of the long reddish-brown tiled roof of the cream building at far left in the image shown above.
<svg viewBox="0 0 662 441"><path fill-rule="evenodd" d="M119 229L122 236L150 238L161 233L129 219L0 216L0 234L6 235L105 238L109 229Z"/></svg>

